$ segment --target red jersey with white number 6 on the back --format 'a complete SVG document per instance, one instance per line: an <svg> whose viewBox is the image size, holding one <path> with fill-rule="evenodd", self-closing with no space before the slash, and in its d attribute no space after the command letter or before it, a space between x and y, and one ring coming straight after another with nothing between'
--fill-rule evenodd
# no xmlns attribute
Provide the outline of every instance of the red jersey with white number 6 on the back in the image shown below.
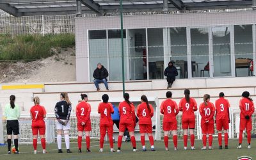
<svg viewBox="0 0 256 160"><path fill-rule="evenodd" d="M139 104L137 107L137 116L139 124L152 124L152 116L154 116L154 108L149 104L150 111L147 108L146 102Z"/></svg>

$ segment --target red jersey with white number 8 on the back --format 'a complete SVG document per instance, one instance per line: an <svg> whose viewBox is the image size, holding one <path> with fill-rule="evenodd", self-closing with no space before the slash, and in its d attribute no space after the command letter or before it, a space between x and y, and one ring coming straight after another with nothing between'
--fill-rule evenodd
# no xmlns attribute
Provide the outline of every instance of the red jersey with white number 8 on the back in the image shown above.
<svg viewBox="0 0 256 160"><path fill-rule="evenodd" d="M166 99L161 103L161 113L164 115L163 122L175 122L179 113L177 103L172 99Z"/></svg>

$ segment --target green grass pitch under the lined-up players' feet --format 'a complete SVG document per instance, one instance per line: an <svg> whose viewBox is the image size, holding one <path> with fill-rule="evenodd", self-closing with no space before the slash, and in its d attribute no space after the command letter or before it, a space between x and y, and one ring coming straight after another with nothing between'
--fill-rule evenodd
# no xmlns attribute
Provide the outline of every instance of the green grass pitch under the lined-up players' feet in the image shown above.
<svg viewBox="0 0 256 160"><path fill-rule="evenodd" d="M83 140L83 153L77 152L77 143L70 144L70 150L72 150L72 154L67 154L65 150L65 143L62 144L63 154L58 154L57 144L47 144L47 154L42 154L42 148L40 144L38 144L38 154L33 154L33 145L20 145L19 155L7 155L6 150L7 147L0 147L0 159L63 159L63 160L77 160L77 159L237 159L240 156L250 156L252 159L256 159L256 139L252 139L252 148L248 149L246 145L246 139L243 140L243 148L237 149L238 140L229 140L229 149L219 150L218 149L218 140L213 141L214 150L201 150L202 141L196 140L195 147L196 150L183 150L183 141L179 140L178 148L179 150L173 150L172 140L169 140L169 151L164 150L163 141L155 141L156 152L142 152L141 151L141 143L137 142L138 152L132 152L131 143L122 143L122 152L109 152L109 143L104 143L104 152L99 152L99 142L93 141L91 143L92 153L86 153L85 144ZM116 148L117 143L114 144ZM147 149L150 150L149 142L146 141ZM188 148L189 142L188 142Z"/></svg>

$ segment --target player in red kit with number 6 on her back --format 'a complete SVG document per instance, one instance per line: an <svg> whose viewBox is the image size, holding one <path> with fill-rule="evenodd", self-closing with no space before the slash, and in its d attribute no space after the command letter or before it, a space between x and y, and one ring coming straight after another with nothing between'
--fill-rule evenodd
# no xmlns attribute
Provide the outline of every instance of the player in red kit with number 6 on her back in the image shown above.
<svg viewBox="0 0 256 160"><path fill-rule="evenodd" d="M145 133L148 134L148 139L151 145L151 151L155 151L154 138L152 136L152 116L154 116L154 109L151 104L148 104L148 99L145 95L141 96L141 104L137 107L137 116L139 118L140 126L140 140L142 150L147 151L145 147Z"/></svg>

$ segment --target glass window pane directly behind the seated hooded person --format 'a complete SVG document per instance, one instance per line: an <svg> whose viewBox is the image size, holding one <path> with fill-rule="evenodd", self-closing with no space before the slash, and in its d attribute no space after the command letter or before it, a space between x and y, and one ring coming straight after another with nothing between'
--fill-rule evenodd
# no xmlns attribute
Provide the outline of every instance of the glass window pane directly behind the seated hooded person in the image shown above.
<svg viewBox="0 0 256 160"><path fill-rule="evenodd" d="M188 78L187 31L186 28L170 28L170 59L179 75L176 78Z"/></svg>

